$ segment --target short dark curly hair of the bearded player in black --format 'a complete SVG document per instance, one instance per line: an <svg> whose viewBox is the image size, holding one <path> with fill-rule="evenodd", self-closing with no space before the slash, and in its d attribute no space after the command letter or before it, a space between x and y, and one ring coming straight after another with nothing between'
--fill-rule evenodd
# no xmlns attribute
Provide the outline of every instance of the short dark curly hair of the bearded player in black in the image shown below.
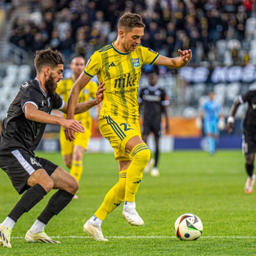
<svg viewBox="0 0 256 256"><path fill-rule="evenodd" d="M65 62L61 53L57 50L53 51L51 48L36 51L35 56L34 63L37 72L41 72L44 67L56 68L59 64Z"/></svg>

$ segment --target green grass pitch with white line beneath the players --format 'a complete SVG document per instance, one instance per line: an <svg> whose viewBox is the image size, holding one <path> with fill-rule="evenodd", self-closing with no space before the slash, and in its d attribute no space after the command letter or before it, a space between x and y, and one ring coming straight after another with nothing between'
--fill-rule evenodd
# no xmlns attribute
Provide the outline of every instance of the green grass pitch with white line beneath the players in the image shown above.
<svg viewBox="0 0 256 256"><path fill-rule="evenodd" d="M65 167L59 153L37 152ZM85 154L84 173L73 200L54 216L45 230L61 244L31 244L24 236L43 210L51 191L12 230L12 248L0 246L0 255L255 255L256 188L244 193L246 174L241 150L176 151L160 156L160 177L144 175L136 195L136 208L145 222L130 227L122 218L120 205L102 224L109 242L97 242L83 232L85 221L118 181L117 163L112 154ZM20 196L7 175L0 171L0 222ZM173 225L183 213L194 213L204 231L196 241L180 241Z"/></svg>

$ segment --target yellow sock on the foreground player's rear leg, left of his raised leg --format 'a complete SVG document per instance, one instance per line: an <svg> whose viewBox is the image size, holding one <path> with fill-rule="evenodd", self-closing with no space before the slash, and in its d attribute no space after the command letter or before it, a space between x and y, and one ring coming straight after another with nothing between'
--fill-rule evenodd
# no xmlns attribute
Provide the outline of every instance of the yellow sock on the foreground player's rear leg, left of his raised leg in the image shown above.
<svg viewBox="0 0 256 256"><path fill-rule="evenodd" d="M104 220L110 212L114 211L124 201L126 172L127 170L119 172L119 181L108 191L100 208L95 212L96 217L100 220Z"/></svg>

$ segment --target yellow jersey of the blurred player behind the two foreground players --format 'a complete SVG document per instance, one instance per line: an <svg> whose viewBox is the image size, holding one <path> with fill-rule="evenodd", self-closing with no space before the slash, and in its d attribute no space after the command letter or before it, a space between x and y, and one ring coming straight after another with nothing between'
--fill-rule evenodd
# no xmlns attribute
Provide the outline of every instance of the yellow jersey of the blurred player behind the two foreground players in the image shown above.
<svg viewBox="0 0 256 256"><path fill-rule="evenodd" d="M65 102L68 102L69 93L74 84L75 84L75 81L71 77L62 79L58 83L56 92L60 96L62 96L62 99ZM90 100L90 98L95 99L97 90L98 90L98 84L90 81L86 85L86 87L84 87L81 90L77 103L88 101L88 100ZM66 118L66 114L64 114L64 118ZM84 113L75 115L74 119L77 121L90 121L90 120L88 120L88 119L91 119L89 110L85 111Z"/></svg>

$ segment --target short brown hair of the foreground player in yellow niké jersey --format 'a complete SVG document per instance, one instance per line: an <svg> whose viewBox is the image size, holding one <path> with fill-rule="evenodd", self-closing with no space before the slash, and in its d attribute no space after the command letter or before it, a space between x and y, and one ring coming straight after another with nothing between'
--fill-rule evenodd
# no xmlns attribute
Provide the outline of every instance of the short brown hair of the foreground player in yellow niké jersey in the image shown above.
<svg viewBox="0 0 256 256"><path fill-rule="evenodd" d="M117 24L118 31L124 29L124 32L130 32L133 28L145 28L145 24L139 14L126 12L121 16Z"/></svg>

